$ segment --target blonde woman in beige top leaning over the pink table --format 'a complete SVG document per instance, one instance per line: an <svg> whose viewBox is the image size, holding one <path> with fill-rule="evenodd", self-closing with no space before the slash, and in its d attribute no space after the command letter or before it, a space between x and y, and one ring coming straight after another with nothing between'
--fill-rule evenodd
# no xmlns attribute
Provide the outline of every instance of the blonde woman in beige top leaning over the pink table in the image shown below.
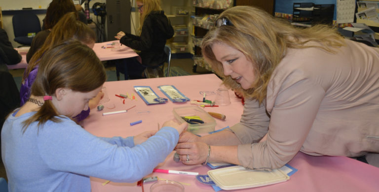
<svg viewBox="0 0 379 192"><path fill-rule="evenodd" d="M327 26L294 28L250 6L227 9L216 24L203 56L227 87L242 89L244 112L228 130L183 134L183 163L275 169L301 151L379 166L377 48Z"/></svg>

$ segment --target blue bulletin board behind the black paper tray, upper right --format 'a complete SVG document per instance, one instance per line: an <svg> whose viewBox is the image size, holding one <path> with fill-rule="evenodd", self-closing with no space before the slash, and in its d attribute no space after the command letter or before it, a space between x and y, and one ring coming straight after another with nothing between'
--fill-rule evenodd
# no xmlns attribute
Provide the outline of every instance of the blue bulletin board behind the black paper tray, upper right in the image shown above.
<svg viewBox="0 0 379 192"><path fill-rule="evenodd" d="M335 4L333 19L337 18L337 0L275 0L275 12L292 14L294 2L313 2L314 4Z"/></svg>

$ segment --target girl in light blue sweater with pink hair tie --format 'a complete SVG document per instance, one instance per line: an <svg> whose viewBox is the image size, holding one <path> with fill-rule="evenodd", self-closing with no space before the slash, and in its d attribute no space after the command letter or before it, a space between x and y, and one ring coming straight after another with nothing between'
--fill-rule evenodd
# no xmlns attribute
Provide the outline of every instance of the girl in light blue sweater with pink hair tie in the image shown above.
<svg viewBox="0 0 379 192"><path fill-rule="evenodd" d="M168 121L134 137L97 137L71 118L106 80L91 48L69 41L46 51L32 95L1 131L9 192L90 192L89 177L133 183L165 160L186 128Z"/></svg>

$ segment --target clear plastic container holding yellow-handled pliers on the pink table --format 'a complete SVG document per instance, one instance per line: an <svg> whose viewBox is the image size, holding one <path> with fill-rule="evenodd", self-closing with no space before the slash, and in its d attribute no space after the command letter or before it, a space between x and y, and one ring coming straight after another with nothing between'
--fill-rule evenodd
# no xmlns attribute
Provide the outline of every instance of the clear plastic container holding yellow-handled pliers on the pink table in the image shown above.
<svg viewBox="0 0 379 192"><path fill-rule="evenodd" d="M216 121L206 111L198 106L175 107L172 111L175 118L184 123L184 116L199 116L204 124L189 124L187 131L193 134L208 133L215 130Z"/></svg>

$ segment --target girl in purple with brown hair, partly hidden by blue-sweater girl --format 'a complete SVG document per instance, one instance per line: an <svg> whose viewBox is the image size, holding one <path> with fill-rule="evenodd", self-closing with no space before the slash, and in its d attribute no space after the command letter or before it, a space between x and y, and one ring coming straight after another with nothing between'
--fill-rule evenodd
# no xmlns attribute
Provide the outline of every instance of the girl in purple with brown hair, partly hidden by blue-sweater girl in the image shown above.
<svg viewBox="0 0 379 192"><path fill-rule="evenodd" d="M30 96L30 89L37 76L38 64L42 55L46 52L46 50L51 49L55 45L70 38L79 40L90 48L93 48L96 39L95 32L84 23L78 21L75 12L67 13L61 20L59 20L59 22L52 29L51 33L47 36L46 42L43 44L41 49L39 49L30 60L30 63L24 72L22 85L20 88L21 105L23 105ZM85 74L83 74L83 78L84 77ZM79 122L85 119L89 115L90 109L93 109L98 105L103 95L104 94L100 92L98 96L91 99L88 110L84 110L80 113L75 118L76 121Z"/></svg>

